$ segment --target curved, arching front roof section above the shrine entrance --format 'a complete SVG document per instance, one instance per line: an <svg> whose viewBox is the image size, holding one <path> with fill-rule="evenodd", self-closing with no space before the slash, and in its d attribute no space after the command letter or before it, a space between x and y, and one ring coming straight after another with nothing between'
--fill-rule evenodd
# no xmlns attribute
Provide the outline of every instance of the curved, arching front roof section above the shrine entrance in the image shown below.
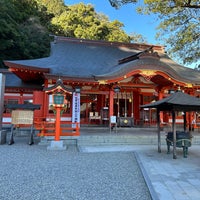
<svg viewBox="0 0 200 200"><path fill-rule="evenodd" d="M134 70L157 70L163 71L169 77L187 82L200 84L200 72L196 72L190 68L183 67L172 61L167 56L161 55L161 59L155 58L141 58L137 60L130 61L121 65L113 67L114 70L108 71L101 75L96 75L96 79L99 80L111 80L122 77L127 73Z"/></svg>

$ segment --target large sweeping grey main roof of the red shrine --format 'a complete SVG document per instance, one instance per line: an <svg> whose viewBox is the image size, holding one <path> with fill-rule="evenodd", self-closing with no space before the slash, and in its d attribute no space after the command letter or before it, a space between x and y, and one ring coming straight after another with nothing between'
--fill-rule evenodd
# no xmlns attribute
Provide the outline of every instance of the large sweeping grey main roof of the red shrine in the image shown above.
<svg viewBox="0 0 200 200"><path fill-rule="evenodd" d="M140 56L152 48L158 58ZM127 58L127 59L124 59ZM124 62L125 61L125 62ZM200 72L170 59L162 46L124 44L57 37L51 55L34 60L8 61L19 67L50 69L48 75L83 79L113 79L137 69L162 70L175 79L200 84Z"/></svg>

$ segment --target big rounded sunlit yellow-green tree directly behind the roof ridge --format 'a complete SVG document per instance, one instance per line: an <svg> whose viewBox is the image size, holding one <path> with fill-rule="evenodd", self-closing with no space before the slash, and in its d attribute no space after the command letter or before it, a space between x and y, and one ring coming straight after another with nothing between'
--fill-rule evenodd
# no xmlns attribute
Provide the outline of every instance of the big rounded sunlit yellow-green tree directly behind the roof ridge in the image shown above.
<svg viewBox="0 0 200 200"><path fill-rule="evenodd" d="M67 37L130 42L130 37L122 30L124 26L115 20L95 12L90 4L83 3L67 6L67 9L52 20L52 24L60 27L56 34Z"/></svg>

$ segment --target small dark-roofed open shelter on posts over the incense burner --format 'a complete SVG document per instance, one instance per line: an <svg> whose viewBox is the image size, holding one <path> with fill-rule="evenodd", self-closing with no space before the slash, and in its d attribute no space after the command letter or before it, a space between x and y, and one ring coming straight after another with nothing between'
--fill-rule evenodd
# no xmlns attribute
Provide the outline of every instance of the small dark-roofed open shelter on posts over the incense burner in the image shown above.
<svg viewBox="0 0 200 200"><path fill-rule="evenodd" d="M145 104L142 108L156 108L157 109L157 125L158 125L158 152L161 152L161 139L160 139L160 111L172 112L172 128L173 128L173 158L176 158L176 111L184 113L189 111L200 110L200 98L191 96L189 94L177 91L170 96L159 101ZM186 114L184 115L184 130L186 129Z"/></svg>

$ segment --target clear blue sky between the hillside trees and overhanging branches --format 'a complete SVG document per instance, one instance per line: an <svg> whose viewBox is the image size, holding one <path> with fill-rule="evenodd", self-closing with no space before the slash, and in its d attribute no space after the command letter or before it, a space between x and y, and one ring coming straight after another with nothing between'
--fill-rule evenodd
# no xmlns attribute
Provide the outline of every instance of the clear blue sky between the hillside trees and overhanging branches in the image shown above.
<svg viewBox="0 0 200 200"><path fill-rule="evenodd" d="M104 13L111 21L117 19L124 24L124 30L127 34L138 33L143 35L150 44L159 44L155 40L156 26L158 21L155 16L139 15L135 11L134 4L123 5L119 9L113 8L109 0L65 0L66 5L72 5L83 2L92 4L96 12Z"/></svg>

